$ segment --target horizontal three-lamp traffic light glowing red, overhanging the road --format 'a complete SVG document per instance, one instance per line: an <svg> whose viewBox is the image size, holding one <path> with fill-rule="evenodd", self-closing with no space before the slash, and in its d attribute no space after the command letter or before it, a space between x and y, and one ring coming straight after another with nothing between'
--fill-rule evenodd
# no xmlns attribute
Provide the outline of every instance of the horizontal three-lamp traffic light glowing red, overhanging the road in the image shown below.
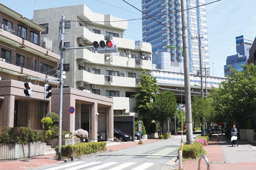
<svg viewBox="0 0 256 170"><path fill-rule="evenodd" d="M93 49L97 50L98 53L106 53L106 52L117 52L117 45L114 44L114 40L102 40L95 41L92 43Z"/></svg>

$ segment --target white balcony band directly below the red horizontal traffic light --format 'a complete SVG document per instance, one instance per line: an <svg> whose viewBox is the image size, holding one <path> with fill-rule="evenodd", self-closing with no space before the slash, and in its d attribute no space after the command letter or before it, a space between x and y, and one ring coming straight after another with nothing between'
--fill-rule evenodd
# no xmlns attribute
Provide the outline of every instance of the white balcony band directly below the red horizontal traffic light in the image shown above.
<svg viewBox="0 0 256 170"><path fill-rule="evenodd" d="M88 49L79 49L76 58L86 63L152 70L152 61L149 60L92 53Z"/></svg>

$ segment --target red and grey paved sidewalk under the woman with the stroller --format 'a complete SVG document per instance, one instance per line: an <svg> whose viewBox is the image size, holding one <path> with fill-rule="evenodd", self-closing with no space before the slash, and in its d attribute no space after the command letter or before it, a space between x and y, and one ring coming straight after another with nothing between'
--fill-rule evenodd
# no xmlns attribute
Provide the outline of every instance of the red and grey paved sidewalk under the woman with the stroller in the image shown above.
<svg viewBox="0 0 256 170"><path fill-rule="evenodd" d="M219 136L217 143L217 135L213 135L204 149L207 152L210 170L256 170L256 147L247 141L238 140L238 146L232 147L230 138ZM182 168L197 170L197 161L184 161ZM200 168L206 169L204 159L201 159ZM179 165L176 169L179 169Z"/></svg>

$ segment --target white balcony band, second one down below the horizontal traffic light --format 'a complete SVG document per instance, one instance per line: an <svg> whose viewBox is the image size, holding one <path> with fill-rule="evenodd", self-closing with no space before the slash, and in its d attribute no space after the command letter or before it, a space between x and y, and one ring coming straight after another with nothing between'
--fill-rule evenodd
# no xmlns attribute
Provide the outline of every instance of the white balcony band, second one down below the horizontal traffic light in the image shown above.
<svg viewBox="0 0 256 170"><path fill-rule="evenodd" d="M83 81L96 85L136 87L136 78L92 74L85 70L76 70L76 81Z"/></svg>

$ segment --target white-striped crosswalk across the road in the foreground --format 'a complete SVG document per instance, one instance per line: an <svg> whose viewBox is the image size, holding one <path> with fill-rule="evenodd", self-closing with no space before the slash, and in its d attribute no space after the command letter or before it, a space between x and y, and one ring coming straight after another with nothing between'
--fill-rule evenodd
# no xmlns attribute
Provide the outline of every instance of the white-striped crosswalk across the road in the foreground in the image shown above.
<svg viewBox="0 0 256 170"><path fill-rule="evenodd" d="M89 167L92 166L93 167ZM109 167L112 165L116 165L115 167ZM120 163L120 162L73 162L70 164L65 164L61 166L56 166L53 168L48 168L45 170L122 170L124 168L132 168L130 170L146 170L146 168L149 168L150 166L154 165L154 163L143 163L139 164L137 162L126 162L126 163ZM132 167L130 167L132 166ZM110 169L109 169L110 168Z"/></svg>

